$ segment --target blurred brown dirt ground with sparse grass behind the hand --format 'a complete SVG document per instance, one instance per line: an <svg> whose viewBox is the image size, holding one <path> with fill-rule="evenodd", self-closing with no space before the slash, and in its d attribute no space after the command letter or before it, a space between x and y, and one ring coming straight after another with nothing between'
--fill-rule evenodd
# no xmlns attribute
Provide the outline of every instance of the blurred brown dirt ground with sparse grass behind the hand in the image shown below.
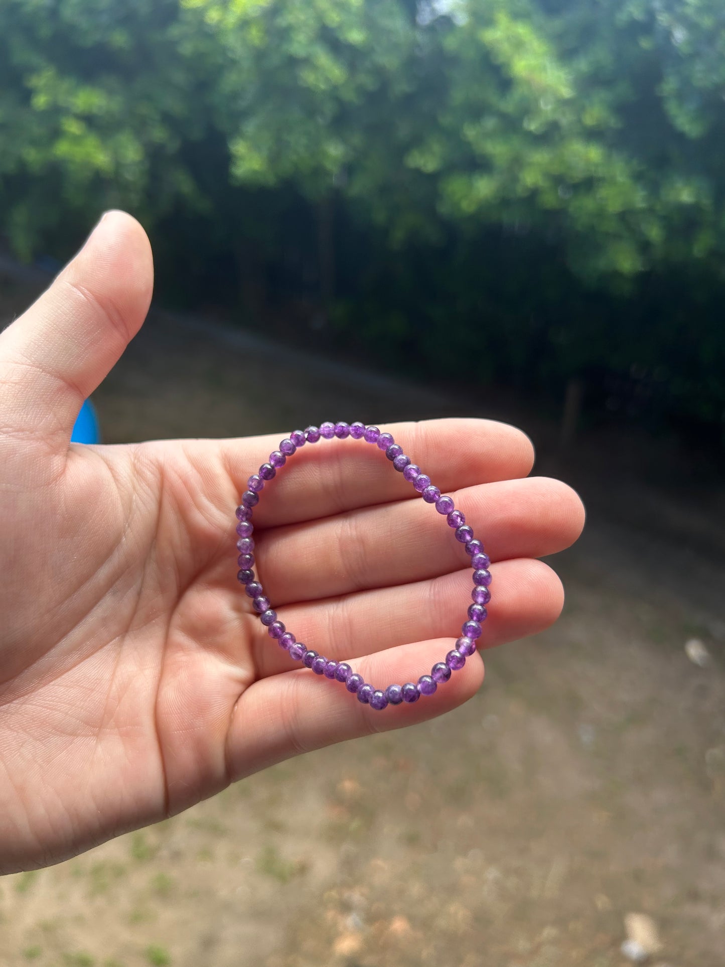
<svg viewBox="0 0 725 967"><path fill-rule="evenodd" d="M0 286L0 316L27 286ZM725 964L725 500L668 441L554 428L263 339L154 316L95 397L107 442L452 413L523 425L589 507L565 612L488 652L435 722L277 766L144 832L0 880L0 964ZM705 667L685 654L699 638Z"/></svg>

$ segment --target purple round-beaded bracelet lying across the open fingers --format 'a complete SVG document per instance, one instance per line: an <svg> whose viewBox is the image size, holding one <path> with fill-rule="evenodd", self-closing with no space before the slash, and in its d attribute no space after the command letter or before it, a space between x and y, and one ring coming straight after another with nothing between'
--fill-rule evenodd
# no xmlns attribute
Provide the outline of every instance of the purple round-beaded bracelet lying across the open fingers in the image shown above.
<svg viewBox="0 0 725 967"><path fill-rule="evenodd" d="M438 661L430 669L430 675L421 675L418 683L406 682L405 685L389 685L387 689L375 689L362 680L362 675L354 672L346 661L333 661L324 655L307 648L298 641L291 631L286 630L277 619L269 599L265 596L262 585L254 575L254 527L251 522L252 510L259 503L259 493L266 482L271 481L280 467L287 462L287 457L295 454L305 443L317 443L321 438L325 440L344 440L346 437L354 440L364 440L366 443L377 444L378 449L385 452L391 460L392 466L401 473L406 481L413 484L426 504L434 504L438 513L444 514L449 527L453 528L455 540L462 543L466 553L471 558L474 569L474 590L471 593L473 603L468 607L468 621L461 628L462 636L458 638L455 647L448 653L445 661ZM488 555L483 552L483 544L474 537L473 528L466 523L466 517L456 511L453 501L448 496L442 496L437 486L430 483L430 478L421 473L420 467L411 463L410 457L403 453L403 448L395 443L390 433L382 433L377 426L365 426L362 423L324 423L318 426L307 426L303 431L296 429L279 444L279 450L270 454L270 462L263 463L259 471L247 481L248 489L242 495L242 503L237 508L237 550L240 571L237 579L245 585L246 594L252 599L254 610L266 626L270 637L275 638L280 648L289 653L290 658L302 661L307 668L311 668L317 675L341 682L348 691L358 696L358 700L371 709L380 712L388 705L400 705L401 702L417 702L420 695L432 695L439 685L449 681L454 671L462 668L466 658L476 651L476 642L481 634L481 622L486 619L486 604L491 600L488 590L491 583L491 573L488 566L491 563Z"/></svg>

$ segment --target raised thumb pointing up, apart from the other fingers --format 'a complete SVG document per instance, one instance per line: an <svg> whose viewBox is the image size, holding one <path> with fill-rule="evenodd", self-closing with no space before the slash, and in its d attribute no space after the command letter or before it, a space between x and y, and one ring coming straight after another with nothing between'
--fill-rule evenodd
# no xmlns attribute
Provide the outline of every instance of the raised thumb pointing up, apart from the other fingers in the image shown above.
<svg viewBox="0 0 725 967"><path fill-rule="evenodd" d="M67 447L86 396L140 328L151 301L146 233L107 212L73 261L0 337L3 424Z"/></svg>

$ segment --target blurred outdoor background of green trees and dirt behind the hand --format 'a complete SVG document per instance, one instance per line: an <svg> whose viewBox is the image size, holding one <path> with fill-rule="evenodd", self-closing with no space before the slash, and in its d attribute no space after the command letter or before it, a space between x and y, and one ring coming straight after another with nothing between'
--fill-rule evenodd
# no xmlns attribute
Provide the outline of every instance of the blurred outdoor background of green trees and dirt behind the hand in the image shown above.
<svg viewBox="0 0 725 967"><path fill-rule="evenodd" d="M0 323L155 249L106 442L487 416L590 517L464 708L6 877L0 964L725 964L723 158L722 0L2 0Z"/></svg>

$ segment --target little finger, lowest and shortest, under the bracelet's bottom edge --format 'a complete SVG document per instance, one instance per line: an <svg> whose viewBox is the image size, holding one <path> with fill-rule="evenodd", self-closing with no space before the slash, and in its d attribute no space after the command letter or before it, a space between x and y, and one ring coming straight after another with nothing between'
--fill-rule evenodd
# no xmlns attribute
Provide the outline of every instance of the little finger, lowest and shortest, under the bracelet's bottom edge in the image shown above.
<svg viewBox="0 0 725 967"><path fill-rule="evenodd" d="M385 689L391 682L417 682L448 650L445 640L423 641L367 656L358 666L366 682ZM483 662L475 654L434 695L375 712L339 682L306 668L262 679L235 707L227 737L229 775L242 778L314 748L435 718L471 698L482 681Z"/></svg>

